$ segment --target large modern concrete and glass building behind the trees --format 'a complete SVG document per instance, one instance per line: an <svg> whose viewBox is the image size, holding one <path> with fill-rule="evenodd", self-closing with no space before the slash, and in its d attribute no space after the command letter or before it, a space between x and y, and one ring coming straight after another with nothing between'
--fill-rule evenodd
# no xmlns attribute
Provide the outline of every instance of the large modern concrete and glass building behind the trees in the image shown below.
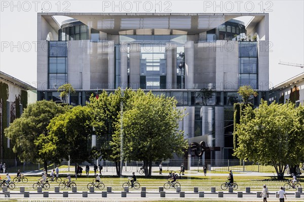
<svg viewBox="0 0 304 202"><path fill-rule="evenodd" d="M56 15L71 19L58 24ZM242 16L252 16L248 25L235 19ZM77 91L70 96L72 105L85 105L92 93L118 87L174 96L188 113L179 124L185 138L220 147L211 151L216 162L232 158L233 104L241 102L238 88L251 85L258 91L251 99L254 105L269 99L268 14L37 17L37 39L43 44L37 53L38 100L60 100L57 88L64 83ZM207 106L202 88L215 91ZM195 159L189 154L188 166Z"/></svg>

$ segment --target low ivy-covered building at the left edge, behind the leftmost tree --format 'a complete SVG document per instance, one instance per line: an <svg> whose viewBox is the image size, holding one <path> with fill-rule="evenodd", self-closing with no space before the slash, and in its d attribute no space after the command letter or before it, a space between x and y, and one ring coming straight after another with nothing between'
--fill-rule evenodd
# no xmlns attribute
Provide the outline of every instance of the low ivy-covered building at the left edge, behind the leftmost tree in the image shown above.
<svg viewBox="0 0 304 202"><path fill-rule="evenodd" d="M36 102L36 88L0 71L0 160L16 160L4 129L22 115L28 104ZM6 161L7 165L8 161Z"/></svg>

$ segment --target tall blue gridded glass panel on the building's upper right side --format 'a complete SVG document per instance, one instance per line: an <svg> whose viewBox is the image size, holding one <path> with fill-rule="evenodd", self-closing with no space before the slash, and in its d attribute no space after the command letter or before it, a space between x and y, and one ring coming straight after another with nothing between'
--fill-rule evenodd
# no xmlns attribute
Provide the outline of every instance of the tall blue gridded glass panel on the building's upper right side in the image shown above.
<svg viewBox="0 0 304 202"><path fill-rule="evenodd" d="M239 86L250 85L257 89L257 42L239 42Z"/></svg>

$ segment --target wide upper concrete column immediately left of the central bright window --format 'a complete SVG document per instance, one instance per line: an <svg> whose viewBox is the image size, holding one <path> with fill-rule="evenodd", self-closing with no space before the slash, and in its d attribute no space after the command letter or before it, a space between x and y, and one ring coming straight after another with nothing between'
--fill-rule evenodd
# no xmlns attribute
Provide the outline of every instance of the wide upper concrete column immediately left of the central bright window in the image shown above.
<svg viewBox="0 0 304 202"><path fill-rule="evenodd" d="M140 87L140 44L132 43L130 46L130 87Z"/></svg>

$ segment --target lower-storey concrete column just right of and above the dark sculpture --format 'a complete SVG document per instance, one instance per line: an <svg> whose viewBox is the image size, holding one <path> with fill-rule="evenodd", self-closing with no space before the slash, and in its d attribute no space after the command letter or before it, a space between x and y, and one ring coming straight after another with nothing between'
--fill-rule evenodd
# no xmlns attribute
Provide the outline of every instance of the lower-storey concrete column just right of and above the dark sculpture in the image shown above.
<svg viewBox="0 0 304 202"><path fill-rule="evenodd" d="M222 160L224 150L224 107L215 107L215 145L219 146L220 151L215 151L215 163Z"/></svg>

